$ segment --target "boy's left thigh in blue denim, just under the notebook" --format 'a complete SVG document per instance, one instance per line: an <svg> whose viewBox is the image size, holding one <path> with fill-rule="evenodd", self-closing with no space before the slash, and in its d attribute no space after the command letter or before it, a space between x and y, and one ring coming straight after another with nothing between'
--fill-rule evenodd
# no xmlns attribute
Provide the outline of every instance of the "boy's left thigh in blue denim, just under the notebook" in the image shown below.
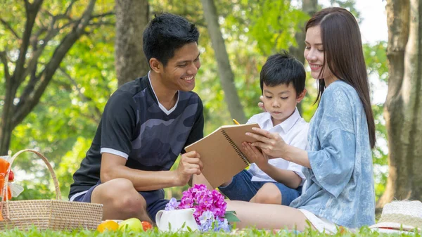
<svg viewBox="0 0 422 237"><path fill-rule="evenodd" d="M248 201L261 187L260 182L252 182L251 179L252 174L248 170L242 170L233 177L229 185L218 188L230 200Z"/></svg>

